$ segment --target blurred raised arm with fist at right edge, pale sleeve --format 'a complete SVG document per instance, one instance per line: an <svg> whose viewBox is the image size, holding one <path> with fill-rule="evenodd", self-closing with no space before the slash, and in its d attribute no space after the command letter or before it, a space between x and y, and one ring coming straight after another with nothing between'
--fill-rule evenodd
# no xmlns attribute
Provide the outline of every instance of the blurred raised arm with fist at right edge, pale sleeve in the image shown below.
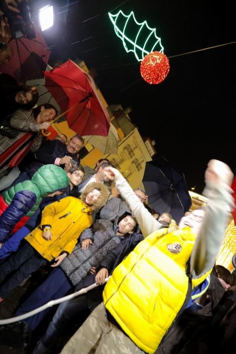
<svg viewBox="0 0 236 354"><path fill-rule="evenodd" d="M233 173L223 162L211 160L205 172L208 198L204 220L191 255L191 274L199 277L214 265L220 250L233 199L230 189Z"/></svg>

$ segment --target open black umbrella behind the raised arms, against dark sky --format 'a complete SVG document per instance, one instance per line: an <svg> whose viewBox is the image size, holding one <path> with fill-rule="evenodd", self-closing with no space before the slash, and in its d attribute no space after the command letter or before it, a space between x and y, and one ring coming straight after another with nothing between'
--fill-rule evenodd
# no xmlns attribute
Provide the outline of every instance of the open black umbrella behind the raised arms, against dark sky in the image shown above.
<svg viewBox="0 0 236 354"><path fill-rule="evenodd" d="M143 184L153 209L169 212L176 223L192 205L183 173L164 157L146 162Z"/></svg>

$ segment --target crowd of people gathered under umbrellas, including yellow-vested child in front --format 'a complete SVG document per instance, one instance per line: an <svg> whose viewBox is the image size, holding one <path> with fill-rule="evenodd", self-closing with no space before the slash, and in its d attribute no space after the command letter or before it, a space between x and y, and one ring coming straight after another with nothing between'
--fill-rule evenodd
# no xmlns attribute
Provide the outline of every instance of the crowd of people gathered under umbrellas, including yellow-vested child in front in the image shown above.
<svg viewBox="0 0 236 354"><path fill-rule="evenodd" d="M17 11L14 3L7 2ZM7 19L0 27L4 65L13 55ZM26 352L228 350L235 343L235 281L215 260L233 207L230 168L209 161L207 205L186 212L177 225L168 212L152 209L144 190L133 191L107 158L82 166L80 135L46 140L42 130L58 112L49 103L35 107L36 87L0 74L0 97L0 154L32 134L20 169L8 168L6 160L0 170L0 314L38 269L45 276L16 316L97 284L54 312L26 318L31 333L42 322L48 326ZM11 329L0 326L0 339L5 330Z"/></svg>

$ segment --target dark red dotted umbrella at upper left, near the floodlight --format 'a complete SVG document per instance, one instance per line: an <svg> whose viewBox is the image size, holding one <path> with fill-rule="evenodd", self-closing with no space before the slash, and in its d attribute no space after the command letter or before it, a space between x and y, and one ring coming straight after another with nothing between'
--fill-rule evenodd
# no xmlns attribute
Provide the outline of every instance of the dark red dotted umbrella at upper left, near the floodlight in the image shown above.
<svg viewBox="0 0 236 354"><path fill-rule="evenodd" d="M43 77L49 61L51 52L48 45L38 28L35 28L35 33L34 39L21 37L9 41L13 57L8 64L1 66L1 72L12 75L18 82Z"/></svg>

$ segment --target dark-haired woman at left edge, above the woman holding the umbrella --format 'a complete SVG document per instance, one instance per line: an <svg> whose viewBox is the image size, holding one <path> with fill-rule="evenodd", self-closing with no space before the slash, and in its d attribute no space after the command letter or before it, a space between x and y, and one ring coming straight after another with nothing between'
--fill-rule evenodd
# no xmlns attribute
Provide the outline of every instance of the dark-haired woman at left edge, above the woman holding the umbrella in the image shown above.
<svg viewBox="0 0 236 354"><path fill-rule="evenodd" d="M9 74L0 75L1 125L6 125L8 116L19 108L29 110L38 101L38 92L34 86L19 85Z"/></svg>

